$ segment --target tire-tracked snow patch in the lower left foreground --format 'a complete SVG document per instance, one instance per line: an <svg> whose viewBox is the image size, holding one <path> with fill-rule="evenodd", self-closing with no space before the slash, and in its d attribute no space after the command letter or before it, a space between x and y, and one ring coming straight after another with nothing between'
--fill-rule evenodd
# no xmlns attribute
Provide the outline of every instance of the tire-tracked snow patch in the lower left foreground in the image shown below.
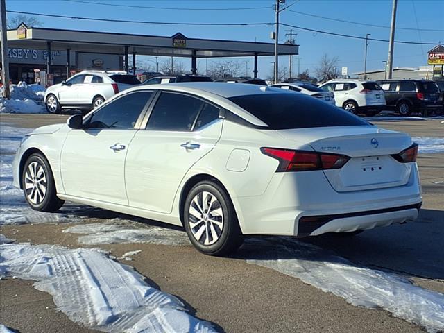
<svg viewBox="0 0 444 333"><path fill-rule="evenodd" d="M178 298L150 287L130 266L94 249L7 244L0 275L36 280L71 321L105 332L216 332Z"/></svg>

